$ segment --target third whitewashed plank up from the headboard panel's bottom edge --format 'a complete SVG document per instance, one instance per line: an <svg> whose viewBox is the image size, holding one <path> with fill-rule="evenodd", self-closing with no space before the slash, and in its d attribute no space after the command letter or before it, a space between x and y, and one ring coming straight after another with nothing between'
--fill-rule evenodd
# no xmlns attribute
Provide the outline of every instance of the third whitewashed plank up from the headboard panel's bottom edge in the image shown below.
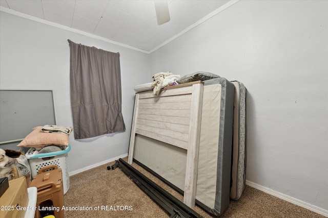
<svg viewBox="0 0 328 218"><path fill-rule="evenodd" d="M163 122L163 121L156 121L156 120L140 119L140 117L137 120L137 124L189 134L188 125L172 124L169 122L170 120L166 120L166 122Z"/></svg>

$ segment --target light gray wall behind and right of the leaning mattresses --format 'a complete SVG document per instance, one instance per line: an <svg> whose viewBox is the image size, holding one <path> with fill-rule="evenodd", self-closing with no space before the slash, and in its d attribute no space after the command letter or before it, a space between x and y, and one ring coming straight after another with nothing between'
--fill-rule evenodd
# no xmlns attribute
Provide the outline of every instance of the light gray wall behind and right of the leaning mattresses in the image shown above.
<svg viewBox="0 0 328 218"><path fill-rule="evenodd" d="M248 88L248 181L328 209L328 2L240 1L153 52L152 72Z"/></svg>

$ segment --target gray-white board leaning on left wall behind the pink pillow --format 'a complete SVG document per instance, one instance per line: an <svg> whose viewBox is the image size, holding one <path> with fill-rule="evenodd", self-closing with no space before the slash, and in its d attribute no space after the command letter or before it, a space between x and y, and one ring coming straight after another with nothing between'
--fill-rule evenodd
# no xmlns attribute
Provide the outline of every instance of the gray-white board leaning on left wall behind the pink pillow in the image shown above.
<svg viewBox="0 0 328 218"><path fill-rule="evenodd" d="M52 90L0 90L0 144L20 141L36 126L55 125Z"/></svg>

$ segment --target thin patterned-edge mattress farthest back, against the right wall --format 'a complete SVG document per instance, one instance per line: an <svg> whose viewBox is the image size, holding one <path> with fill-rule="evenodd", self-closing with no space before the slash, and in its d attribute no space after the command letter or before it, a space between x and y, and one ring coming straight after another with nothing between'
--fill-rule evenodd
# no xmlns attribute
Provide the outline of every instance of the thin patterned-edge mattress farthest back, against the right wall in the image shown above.
<svg viewBox="0 0 328 218"><path fill-rule="evenodd" d="M241 82L232 81L232 83L235 86L235 98L230 198L238 200L245 187L247 89Z"/></svg>

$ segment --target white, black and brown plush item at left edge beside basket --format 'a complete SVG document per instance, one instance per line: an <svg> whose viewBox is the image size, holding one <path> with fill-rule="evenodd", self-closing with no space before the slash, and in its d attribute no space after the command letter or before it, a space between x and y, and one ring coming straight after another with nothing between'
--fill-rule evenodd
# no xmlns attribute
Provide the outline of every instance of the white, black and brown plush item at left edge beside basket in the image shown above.
<svg viewBox="0 0 328 218"><path fill-rule="evenodd" d="M17 151L0 149L0 178L8 177L8 180L12 180L17 179L22 174L15 163L15 158L20 155L22 153Z"/></svg>

